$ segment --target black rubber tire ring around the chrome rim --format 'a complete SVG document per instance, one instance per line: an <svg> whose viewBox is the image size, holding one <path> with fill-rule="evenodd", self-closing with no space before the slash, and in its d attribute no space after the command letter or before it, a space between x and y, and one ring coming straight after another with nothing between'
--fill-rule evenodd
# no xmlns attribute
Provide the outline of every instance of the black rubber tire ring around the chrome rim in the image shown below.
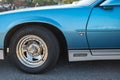
<svg viewBox="0 0 120 80"><path fill-rule="evenodd" d="M24 65L17 56L17 45L20 39L27 35L36 35L40 37L48 49L48 56L45 62L38 67L28 67ZM59 44L54 34L42 26L27 26L18 30L10 41L10 57L18 68L27 73L43 73L53 68L59 58ZM19 53L19 52L18 52ZM28 58L29 59L29 58Z"/></svg>

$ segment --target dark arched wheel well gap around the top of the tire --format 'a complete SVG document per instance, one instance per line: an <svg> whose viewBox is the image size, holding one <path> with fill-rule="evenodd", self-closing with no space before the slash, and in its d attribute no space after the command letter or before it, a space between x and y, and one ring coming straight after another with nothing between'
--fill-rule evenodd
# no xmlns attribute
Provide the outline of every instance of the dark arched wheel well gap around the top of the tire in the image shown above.
<svg viewBox="0 0 120 80"><path fill-rule="evenodd" d="M7 35L5 37L5 42L4 42L4 52L5 53L7 53L7 48L9 47L9 43L10 43L10 39L11 39L12 35L20 28L23 28L23 27L28 26L28 25L41 25L41 26L44 26L45 28L49 29L51 32L53 32L55 37L58 39L58 42L60 45L60 53L61 53L60 56L67 55L67 54L65 54L65 53L67 53L67 42L66 42L65 36L55 26L50 25L50 24L46 24L46 23L24 23L24 24L20 24L20 25L13 27L7 33Z"/></svg>

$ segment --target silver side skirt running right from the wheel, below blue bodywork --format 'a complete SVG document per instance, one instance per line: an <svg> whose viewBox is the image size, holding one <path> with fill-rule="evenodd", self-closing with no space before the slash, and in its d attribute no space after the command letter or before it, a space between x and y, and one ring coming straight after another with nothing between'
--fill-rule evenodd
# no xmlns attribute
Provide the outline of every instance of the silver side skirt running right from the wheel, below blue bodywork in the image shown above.
<svg viewBox="0 0 120 80"><path fill-rule="evenodd" d="M68 50L69 61L91 61L91 60L120 60L120 50L95 50L94 54L89 50ZM99 54L98 54L99 53ZM109 54L108 54L109 53ZM119 53L119 54L116 54ZM100 55L102 54L102 55ZM104 55L105 54L105 55Z"/></svg>

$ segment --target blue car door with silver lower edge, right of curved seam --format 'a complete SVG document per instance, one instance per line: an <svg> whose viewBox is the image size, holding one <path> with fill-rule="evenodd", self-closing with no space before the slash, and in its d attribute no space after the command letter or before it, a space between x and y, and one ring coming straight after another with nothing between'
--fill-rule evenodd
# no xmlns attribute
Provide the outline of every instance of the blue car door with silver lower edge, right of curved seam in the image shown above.
<svg viewBox="0 0 120 80"><path fill-rule="evenodd" d="M94 7L88 22L87 37L93 55L113 54L111 51L120 54L120 0L106 0ZM95 53L95 50L110 52Z"/></svg>

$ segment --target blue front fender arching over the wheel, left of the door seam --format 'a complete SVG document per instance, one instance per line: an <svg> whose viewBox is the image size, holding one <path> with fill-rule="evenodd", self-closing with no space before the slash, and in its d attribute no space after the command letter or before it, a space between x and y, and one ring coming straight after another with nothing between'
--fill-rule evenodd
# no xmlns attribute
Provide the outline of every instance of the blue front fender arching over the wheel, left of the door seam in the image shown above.
<svg viewBox="0 0 120 80"><path fill-rule="evenodd" d="M71 6L69 8L46 10L38 8L36 10L16 11L16 13L6 12L0 14L0 23L3 23L0 24L0 34L2 34L0 35L0 47L3 48L5 35L14 26L29 22L43 22L54 25L63 32L69 49L88 48L86 36L79 36L78 32L85 32L85 26L91 9L92 7L87 6ZM70 22L72 24L70 24Z"/></svg>

